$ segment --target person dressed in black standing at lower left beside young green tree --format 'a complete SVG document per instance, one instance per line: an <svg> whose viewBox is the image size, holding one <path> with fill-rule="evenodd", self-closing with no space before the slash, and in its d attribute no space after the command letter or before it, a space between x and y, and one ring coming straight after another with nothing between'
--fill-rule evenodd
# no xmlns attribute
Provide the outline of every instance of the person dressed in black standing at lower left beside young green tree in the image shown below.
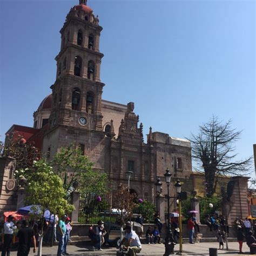
<svg viewBox="0 0 256 256"><path fill-rule="evenodd" d="M22 221L22 228L18 231L19 246L17 256L28 256L31 242L33 241L33 253L36 252L36 237L35 232L29 227L29 221Z"/></svg>

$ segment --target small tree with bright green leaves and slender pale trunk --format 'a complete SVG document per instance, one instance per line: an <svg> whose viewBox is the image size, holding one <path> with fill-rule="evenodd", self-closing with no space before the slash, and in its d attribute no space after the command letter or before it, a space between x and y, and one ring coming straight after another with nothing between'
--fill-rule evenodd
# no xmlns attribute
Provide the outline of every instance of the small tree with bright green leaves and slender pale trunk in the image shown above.
<svg viewBox="0 0 256 256"><path fill-rule="evenodd" d="M65 213L72 212L75 207L68 204L68 201L64 199L65 190L62 180L53 173L52 167L45 160L34 161L26 174L24 175L29 180L26 186L26 203L40 206L40 211L37 211L36 215L42 223L38 245L38 256L41 256L45 211L49 210L51 213L62 216Z"/></svg>

